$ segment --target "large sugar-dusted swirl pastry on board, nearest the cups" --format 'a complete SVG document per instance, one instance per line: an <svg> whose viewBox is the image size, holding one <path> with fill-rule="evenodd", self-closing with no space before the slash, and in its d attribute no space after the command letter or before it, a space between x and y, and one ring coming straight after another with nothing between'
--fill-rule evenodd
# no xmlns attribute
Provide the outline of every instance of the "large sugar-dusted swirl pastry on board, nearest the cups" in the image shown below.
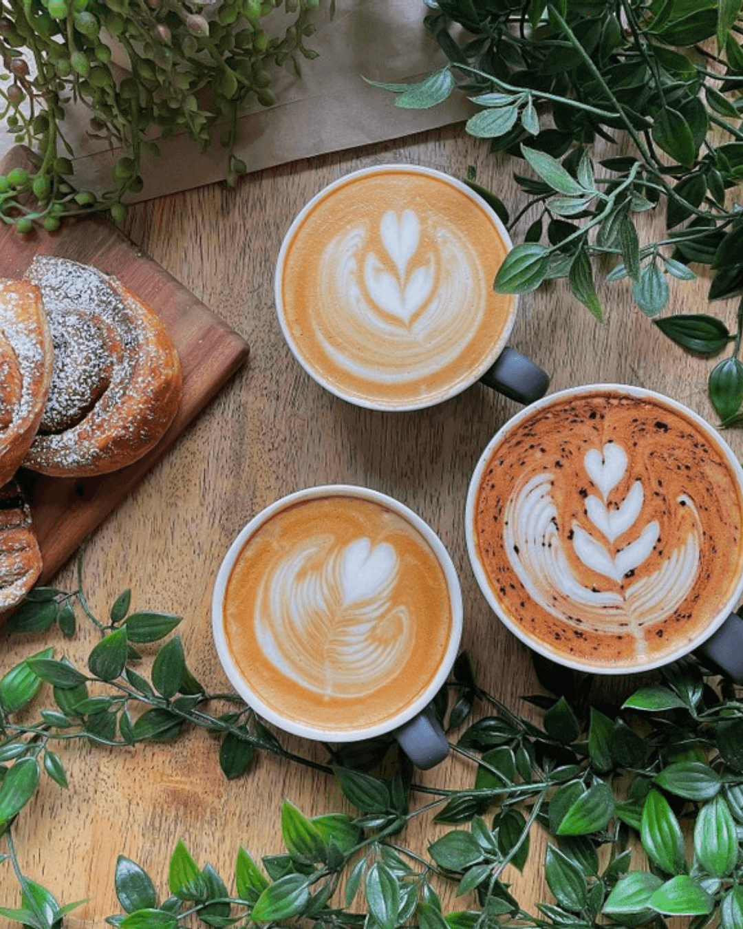
<svg viewBox="0 0 743 929"><path fill-rule="evenodd" d="M157 314L124 285L66 258L36 256L54 346L49 397L23 464L89 477L132 464L176 415L182 374Z"/></svg>

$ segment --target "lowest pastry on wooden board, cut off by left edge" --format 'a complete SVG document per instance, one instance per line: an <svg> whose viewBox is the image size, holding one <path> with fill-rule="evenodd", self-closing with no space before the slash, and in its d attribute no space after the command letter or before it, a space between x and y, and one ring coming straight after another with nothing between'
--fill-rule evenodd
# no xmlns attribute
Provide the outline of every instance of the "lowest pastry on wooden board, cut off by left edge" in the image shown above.
<svg viewBox="0 0 743 929"><path fill-rule="evenodd" d="M42 569L31 510L16 481L0 488L0 615L15 607Z"/></svg>

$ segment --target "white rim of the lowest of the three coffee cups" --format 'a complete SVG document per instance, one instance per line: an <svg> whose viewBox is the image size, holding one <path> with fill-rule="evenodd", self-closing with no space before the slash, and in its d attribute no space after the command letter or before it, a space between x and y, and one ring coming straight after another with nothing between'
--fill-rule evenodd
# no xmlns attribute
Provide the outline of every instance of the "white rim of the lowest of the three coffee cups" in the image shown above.
<svg viewBox="0 0 743 929"><path fill-rule="evenodd" d="M304 726L296 720L285 718L280 713L277 713L274 709L267 706L263 700L254 694L250 685L245 680L245 677L241 674L237 664L233 661L227 646L224 623L222 620L222 603L229 574L242 548L254 532L262 526L267 519L272 517L274 513L277 513L287 506L291 506L303 500L313 500L318 497L334 495L353 496L364 500L371 500L373 503L382 504L395 511L399 516L411 523L411 526L418 530L424 537L424 540L431 546L444 570L447 586L449 588L451 605L451 634L449 644L444 653L444 658L441 661L438 672L436 676L432 678L428 687L425 688L424 692L417 700L414 700L410 706L406 707L391 720L387 720L385 723L380 723L376 726L367 726L366 728L355 730L334 730ZM256 516L241 529L234 542L229 546L227 555L224 557L217 572L212 594L212 634L214 635L219 661L221 661L225 674L227 674L232 686L235 687L241 698L245 700L256 713L264 717L264 719L267 719L269 723L273 723L283 729L284 732L290 732L295 736L302 736L306 739L318 739L319 741L355 742L360 739L372 739L375 736L381 736L385 733L392 732L394 729L397 729L398 726L403 726L405 723L409 722L413 716L417 716L418 713L421 713L431 700L434 699L439 688L443 687L446 679L449 677L451 666L459 651L460 641L462 639L462 627L463 603L459 577L457 576L457 571L451 561L449 552L444 546L444 543L438 538L436 532L405 504L401 504L398 500L380 491L372 491L370 488L358 487L354 484L323 484L318 487L308 487L302 491L295 491L285 497L281 497L280 500L274 501L274 503L269 504L265 509L261 510L260 513L256 514Z"/></svg>

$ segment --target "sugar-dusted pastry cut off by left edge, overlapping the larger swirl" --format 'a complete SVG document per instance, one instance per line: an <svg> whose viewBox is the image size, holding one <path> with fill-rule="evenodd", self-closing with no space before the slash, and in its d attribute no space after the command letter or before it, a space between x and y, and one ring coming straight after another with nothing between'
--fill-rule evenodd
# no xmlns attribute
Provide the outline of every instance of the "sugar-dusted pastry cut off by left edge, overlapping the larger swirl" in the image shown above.
<svg viewBox="0 0 743 929"><path fill-rule="evenodd" d="M0 280L0 486L13 477L41 420L52 373L52 341L41 292Z"/></svg>

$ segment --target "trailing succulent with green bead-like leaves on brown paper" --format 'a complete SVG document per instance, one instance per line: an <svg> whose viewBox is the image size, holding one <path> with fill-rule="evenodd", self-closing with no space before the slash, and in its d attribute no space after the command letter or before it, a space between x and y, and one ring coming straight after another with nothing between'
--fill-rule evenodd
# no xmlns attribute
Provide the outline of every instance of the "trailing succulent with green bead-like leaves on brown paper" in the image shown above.
<svg viewBox="0 0 743 929"><path fill-rule="evenodd" d="M0 220L53 231L65 216L126 216L142 190L142 156L182 134L227 150L228 183L249 170L235 154L238 121L253 102L276 102L274 65L317 52L306 46L319 0L0 0L0 121L36 154L33 169L0 177ZM273 20L271 14L276 14ZM279 25L275 25L277 18ZM284 21L285 20L285 21ZM124 77L111 65L115 43ZM111 190L75 189L64 118L89 111L88 134L121 150Z"/></svg>

